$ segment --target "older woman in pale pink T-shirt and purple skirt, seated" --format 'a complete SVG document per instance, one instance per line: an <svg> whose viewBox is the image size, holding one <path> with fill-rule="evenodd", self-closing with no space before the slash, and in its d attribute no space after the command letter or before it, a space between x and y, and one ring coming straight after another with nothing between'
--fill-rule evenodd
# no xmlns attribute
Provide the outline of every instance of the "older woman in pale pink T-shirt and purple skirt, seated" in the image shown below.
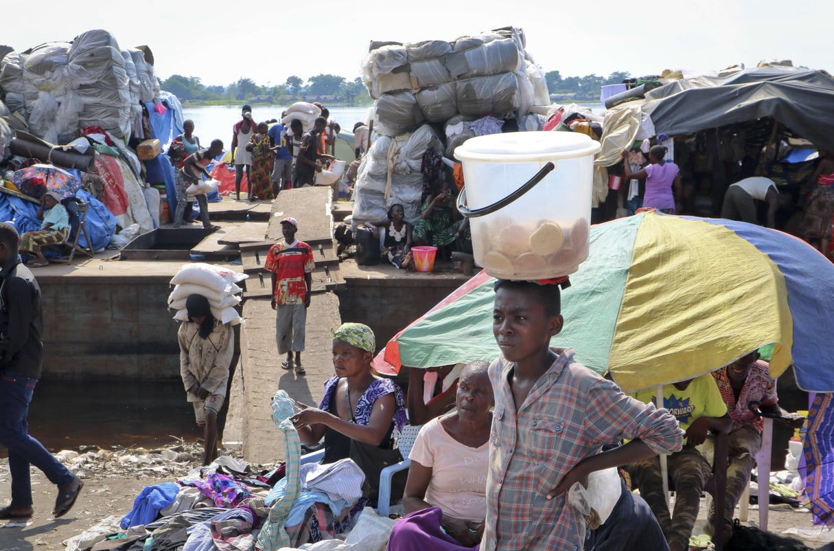
<svg viewBox="0 0 834 551"><path fill-rule="evenodd" d="M486 515L486 474L494 405L486 361L460 373L455 410L427 422L411 448L403 505L394 525L393 551L454 551L480 543Z"/></svg>

